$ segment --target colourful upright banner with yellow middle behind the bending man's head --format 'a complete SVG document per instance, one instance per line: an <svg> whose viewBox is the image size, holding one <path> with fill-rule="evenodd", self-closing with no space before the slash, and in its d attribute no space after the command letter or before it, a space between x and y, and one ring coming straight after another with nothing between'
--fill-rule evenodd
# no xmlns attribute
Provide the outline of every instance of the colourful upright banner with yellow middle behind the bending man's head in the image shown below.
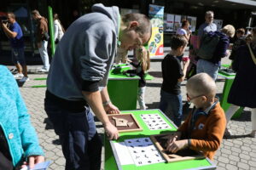
<svg viewBox="0 0 256 170"><path fill-rule="evenodd" d="M148 42L151 59L164 57L164 7L149 4L149 19L152 24L152 36Z"/></svg>

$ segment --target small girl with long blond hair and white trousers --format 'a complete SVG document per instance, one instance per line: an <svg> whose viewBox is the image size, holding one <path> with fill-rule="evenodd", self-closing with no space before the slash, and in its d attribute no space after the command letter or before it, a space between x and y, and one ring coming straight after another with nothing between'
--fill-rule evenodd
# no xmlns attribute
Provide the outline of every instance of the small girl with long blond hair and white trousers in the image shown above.
<svg viewBox="0 0 256 170"><path fill-rule="evenodd" d="M146 110L145 105L145 90L146 90L146 80L145 73L148 71L150 67L150 58L149 52L143 46L136 48L135 50L137 64L135 62L131 62L130 64L136 68L136 70L125 71L124 73L136 74L140 77L138 84L138 93L137 93L137 101L140 105L141 110Z"/></svg>

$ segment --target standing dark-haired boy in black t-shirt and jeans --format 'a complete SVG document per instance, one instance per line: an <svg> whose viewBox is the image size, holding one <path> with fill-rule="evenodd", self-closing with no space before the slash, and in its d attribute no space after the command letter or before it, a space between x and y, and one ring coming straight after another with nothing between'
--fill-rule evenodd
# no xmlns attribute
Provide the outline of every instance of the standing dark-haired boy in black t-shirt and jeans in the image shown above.
<svg viewBox="0 0 256 170"><path fill-rule="evenodd" d="M177 56L181 56L188 44L185 37L173 35L171 39L171 52L162 60L163 83L160 90L159 108L166 116L179 127L183 116L183 101L181 95L181 82L186 77L189 59L183 61L183 68ZM171 116L174 118L171 118Z"/></svg>

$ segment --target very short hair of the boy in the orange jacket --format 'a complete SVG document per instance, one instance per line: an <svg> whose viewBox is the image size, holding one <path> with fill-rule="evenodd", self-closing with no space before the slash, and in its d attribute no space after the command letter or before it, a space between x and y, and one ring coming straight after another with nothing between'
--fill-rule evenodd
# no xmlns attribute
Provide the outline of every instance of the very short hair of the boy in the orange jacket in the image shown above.
<svg viewBox="0 0 256 170"><path fill-rule="evenodd" d="M209 98L214 98L216 95L216 83L207 73L190 77L186 87L195 95L206 95Z"/></svg>

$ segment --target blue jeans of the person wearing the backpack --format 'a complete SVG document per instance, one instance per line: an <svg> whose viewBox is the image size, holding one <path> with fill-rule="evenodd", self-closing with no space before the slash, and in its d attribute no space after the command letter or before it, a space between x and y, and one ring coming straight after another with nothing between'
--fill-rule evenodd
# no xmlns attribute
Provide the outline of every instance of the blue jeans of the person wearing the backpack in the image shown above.
<svg viewBox="0 0 256 170"><path fill-rule="evenodd" d="M196 64L196 73L205 72L215 81L218 76L219 65L205 59L199 59Z"/></svg>

